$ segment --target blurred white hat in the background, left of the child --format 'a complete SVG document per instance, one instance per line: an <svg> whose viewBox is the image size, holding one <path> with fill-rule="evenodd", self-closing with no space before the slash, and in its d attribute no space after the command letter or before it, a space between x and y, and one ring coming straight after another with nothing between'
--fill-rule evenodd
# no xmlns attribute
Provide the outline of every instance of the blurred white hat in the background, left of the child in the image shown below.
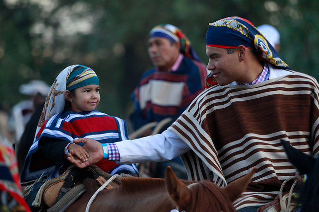
<svg viewBox="0 0 319 212"><path fill-rule="evenodd" d="M26 95L35 95L40 93L42 96L48 95L50 86L41 80L31 80L28 84L21 84L19 92Z"/></svg>

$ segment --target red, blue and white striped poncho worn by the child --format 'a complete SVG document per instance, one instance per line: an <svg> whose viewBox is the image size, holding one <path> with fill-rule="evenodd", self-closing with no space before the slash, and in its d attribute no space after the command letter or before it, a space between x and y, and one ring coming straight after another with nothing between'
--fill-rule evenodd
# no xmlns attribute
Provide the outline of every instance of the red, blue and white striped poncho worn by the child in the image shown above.
<svg viewBox="0 0 319 212"><path fill-rule="evenodd" d="M37 138L30 147L21 173L21 183L28 184L39 178L42 173L48 175L49 178L57 177L59 176L57 170L64 170L70 165L67 160L61 164L61 162L52 161L43 155L38 149L38 143L44 142L45 138L58 139L58 143L62 141L72 142L78 138L89 138L101 143L113 143L126 140L128 131L124 120L96 110L80 113L71 110L56 114L42 125ZM64 152L62 151L61 154L64 154ZM96 165L112 175L120 173L138 175L135 164L118 165L114 161L102 159Z"/></svg>

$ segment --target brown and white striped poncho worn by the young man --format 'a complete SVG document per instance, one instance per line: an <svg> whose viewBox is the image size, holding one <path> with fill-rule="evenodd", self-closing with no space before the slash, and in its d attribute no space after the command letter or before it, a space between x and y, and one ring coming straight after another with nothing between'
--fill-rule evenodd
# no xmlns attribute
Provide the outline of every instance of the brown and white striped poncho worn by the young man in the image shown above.
<svg viewBox="0 0 319 212"><path fill-rule="evenodd" d="M304 152L319 151L319 85L299 72L255 85L213 86L168 129L192 149L182 155L188 176L219 186L256 173L236 209L265 205L296 174L280 139Z"/></svg>

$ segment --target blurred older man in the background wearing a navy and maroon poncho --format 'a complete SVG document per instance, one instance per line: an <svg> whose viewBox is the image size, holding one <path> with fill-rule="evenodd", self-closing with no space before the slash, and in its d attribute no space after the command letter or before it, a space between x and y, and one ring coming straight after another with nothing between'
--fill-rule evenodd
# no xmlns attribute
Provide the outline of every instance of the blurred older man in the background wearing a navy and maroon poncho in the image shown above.
<svg viewBox="0 0 319 212"><path fill-rule="evenodd" d="M130 121L134 130L138 130L149 123L159 124L162 121L162 124L168 120L156 132L161 133L204 90L207 69L185 34L171 24L155 26L150 32L148 46L155 67L142 75L135 88L132 95L135 109ZM154 125L144 131L140 137L151 135L153 127ZM181 174L177 176L186 178L179 157L169 162L152 164L154 168L150 171L150 176L164 177L167 165L177 168L178 164Z"/></svg>

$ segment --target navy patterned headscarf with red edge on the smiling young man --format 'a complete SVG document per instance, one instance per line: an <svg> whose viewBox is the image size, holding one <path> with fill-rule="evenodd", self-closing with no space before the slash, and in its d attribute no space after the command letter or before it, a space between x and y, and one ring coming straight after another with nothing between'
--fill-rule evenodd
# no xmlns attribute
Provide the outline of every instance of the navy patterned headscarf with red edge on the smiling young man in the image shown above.
<svg viewBox="0 0 319 212"><path fill-rule="evenodd" d="M264 60L277 68L291 70L274 47L249 20L233 16L209 24L206 46L232 49L239 45L255 48L259 60ZM210 73L206 78L206 88L210 87L209 82L212 81L212 78L213 75Z"/></svg>

